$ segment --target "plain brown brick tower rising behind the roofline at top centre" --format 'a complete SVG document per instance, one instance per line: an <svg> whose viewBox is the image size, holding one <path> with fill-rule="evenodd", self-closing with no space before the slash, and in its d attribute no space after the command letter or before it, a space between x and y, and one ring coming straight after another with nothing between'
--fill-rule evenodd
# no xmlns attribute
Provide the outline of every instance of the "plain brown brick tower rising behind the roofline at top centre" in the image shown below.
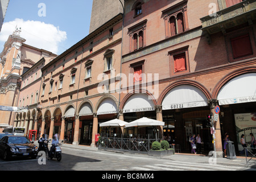
<svg viewBox="0 0 256 182"><path fill-rule="evenodd" d="M119 13L123 13L124 0L93 0L89 34Z"/></svg>

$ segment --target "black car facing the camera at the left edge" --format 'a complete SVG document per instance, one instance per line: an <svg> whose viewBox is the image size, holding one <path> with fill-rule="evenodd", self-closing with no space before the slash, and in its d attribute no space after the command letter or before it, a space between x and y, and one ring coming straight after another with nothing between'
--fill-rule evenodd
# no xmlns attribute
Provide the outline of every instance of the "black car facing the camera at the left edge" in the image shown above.
<svg viewBox="0 0 256 182"><path fill-rule="evenodd" d="M0 140L0 155L4 160L38 156L38 147L27 137L7 135Z"/></svg>

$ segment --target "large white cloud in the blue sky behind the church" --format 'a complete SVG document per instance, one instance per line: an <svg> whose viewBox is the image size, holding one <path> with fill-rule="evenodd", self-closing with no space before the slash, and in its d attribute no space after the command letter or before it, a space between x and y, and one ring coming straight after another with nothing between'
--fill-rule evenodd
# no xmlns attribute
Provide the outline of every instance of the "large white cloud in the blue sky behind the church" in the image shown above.
<svg viewBox="0 0 256 182"><path fill-rule="evenodd" d="M53 24L16 18L11 22L3 23L0 33L0 42L5 44L9 35L13 34L15 27L21 28L20 36L26 39L26 44L53 53L59 53L59 43L67 39L67 32L59 30ZM3 48L3 47L2 47ZM0 47L1 49L1 47Z"/></svg>

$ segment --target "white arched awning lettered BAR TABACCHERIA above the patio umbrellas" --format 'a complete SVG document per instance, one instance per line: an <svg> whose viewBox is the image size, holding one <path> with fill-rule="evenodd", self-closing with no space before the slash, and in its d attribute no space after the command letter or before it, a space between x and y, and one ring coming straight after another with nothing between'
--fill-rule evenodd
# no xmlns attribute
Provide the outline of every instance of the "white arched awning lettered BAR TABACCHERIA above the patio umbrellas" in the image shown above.
<svg viewBox="0 0 256 182"><path fill-rule="evenodd" d="M143 93L138 93L131 96L123 107L123 113L134 113L151 110L155 110L154 102L147 94Z"/></svg>

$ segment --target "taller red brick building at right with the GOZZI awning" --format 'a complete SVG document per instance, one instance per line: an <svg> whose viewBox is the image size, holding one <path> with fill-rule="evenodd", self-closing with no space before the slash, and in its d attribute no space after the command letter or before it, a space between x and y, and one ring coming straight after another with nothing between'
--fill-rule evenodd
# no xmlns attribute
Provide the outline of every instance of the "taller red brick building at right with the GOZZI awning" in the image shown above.
<svg viewBox="0 0 256 182"><path fill-rule="evenodd" d="M222 155L225 133L237 150L241 132L250 142L249 133L256 132L251 128L255 120L250 120L256 111L255 1L230 3L125 1L122 73L144 73L131 81L140 84L140 92L121 94L125 121L156 118L174 126L164 127L163 134L171 135L181 151L190 152L188 137L193 133L200 134L209 151L213 145L206 118L220 105L214 122L217 153ZM158 74L159 85L153 85L159 94L147 89L148 73ZM250 121L238 129L240 115Z"/></svg>

